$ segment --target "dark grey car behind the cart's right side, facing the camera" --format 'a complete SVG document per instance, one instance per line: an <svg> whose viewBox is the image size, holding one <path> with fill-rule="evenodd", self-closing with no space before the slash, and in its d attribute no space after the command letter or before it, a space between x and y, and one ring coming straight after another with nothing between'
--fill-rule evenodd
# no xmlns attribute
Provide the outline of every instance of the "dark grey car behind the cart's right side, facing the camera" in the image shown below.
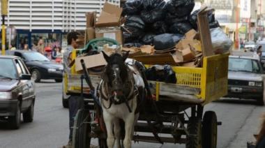
<svg viewBox="0 0 265 148"><path fill-rule="evenodd" d="M254 99L264 105L264 74L262 65L255 57L229 57L229 98Z"/></svg>

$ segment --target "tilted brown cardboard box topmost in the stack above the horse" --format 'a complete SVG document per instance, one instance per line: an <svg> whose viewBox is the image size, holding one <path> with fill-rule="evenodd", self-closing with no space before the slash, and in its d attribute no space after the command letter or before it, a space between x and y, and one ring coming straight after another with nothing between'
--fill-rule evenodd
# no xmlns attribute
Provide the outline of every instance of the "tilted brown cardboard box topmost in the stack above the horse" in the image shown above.
<svg viewBox="0 0 265 148"><path fill-rule="evenodd" d="M121 24L122 10L122 8L106 2L103 6L103 10L100 13L100 17L98 17L96 27L119 26Z"/></svg>

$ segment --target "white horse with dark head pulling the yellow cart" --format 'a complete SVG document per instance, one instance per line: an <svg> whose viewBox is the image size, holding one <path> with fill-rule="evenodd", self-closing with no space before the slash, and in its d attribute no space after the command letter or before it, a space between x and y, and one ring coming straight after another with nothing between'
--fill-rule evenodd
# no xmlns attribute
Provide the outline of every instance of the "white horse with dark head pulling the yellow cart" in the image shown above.
<svg viewBox="0 0 265 148"><path fill-rule="evenodd" d="M103 52L103 57L107 65L98 90L107 130L107 147L113 148L115 143L117 148L121 147L120 120L123 120L123 146L130 148L134 126L139 117L137 102L139 96L144 94L144 80L139 70L133 66L135 60L128 59L128 52L123 55L114 53L110 56Z"/></svg>

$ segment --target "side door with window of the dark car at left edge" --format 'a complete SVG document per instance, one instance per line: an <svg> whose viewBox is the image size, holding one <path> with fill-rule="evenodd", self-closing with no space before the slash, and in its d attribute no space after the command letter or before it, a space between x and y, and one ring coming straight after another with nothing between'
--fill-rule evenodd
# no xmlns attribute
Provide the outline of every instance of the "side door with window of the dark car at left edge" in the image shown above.
<svg viewBox="0 0 265 148"><path fill-rule="evenodd" d="M17 73L20 77L22 74L27 74L25 68L22 66L20 59L15 59L15 65L17 67ZM19 80L19 91L22 94L22 110L29 108L29 80Z"/></svg>

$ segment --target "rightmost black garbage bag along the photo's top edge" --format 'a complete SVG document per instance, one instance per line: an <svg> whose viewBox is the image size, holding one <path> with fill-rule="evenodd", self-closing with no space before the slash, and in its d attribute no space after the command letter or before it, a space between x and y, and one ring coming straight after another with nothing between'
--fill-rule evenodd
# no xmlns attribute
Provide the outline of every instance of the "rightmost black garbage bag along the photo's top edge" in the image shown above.
<svg viewBox="0 0 265 148"><path fill-rule="evenodd" d="M194 0L170 0L165 7L169 13L176 15L176 17L185 17L190 15L194 6Z"/></svg>

